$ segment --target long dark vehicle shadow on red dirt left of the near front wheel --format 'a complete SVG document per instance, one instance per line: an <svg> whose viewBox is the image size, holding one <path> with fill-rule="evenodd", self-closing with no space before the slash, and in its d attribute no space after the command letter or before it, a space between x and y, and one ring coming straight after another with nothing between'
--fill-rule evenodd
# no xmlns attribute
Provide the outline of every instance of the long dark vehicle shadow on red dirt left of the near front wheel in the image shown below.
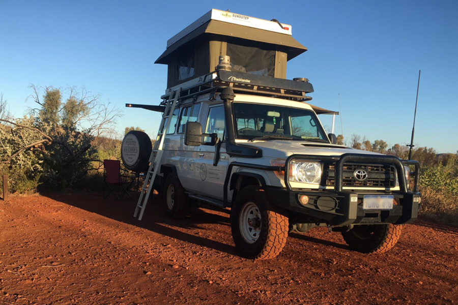
<svg viewBox="0 0 458 305"><path fill-rule="evenodd" d="M145 214L142 220L139 221L133 217L137 203L135 198L122 198L119 201L113 198L104 200L101 194L97 193L81 194L81 196L72 196L70 194L42 195L100 216L144 228L170 238L194 243L197 246L211 248L230 255L239 255L232 243L232 239L228 240L227 243L223 243L204 236L199 236L201 234L208 235L208 233L206 233L207 229L202 226L204 224L218 224L230 227L230 220L229 217L226 216L227 214L216 211L215 209L204 210L190 208L187 218L175 220L165 216L163 202L153 201L153 204L150 202L148 203ZM193 232L196 234L183 232L180 228L194 230ZM228 230L230 230L230 228L228 228Z"/></svg>

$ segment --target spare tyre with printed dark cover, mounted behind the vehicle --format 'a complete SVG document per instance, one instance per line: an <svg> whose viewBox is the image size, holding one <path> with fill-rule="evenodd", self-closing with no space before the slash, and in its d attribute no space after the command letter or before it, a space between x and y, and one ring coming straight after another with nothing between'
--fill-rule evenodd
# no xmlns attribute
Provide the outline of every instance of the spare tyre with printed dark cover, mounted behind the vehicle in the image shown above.
<svg viewBox="0 0 458 305"><path fill-rule="evenodd" d="M148 171L151 151L153 150L150 137L142 132L129 131L121 144L121 159L124 166L136 173Z"/></svg>

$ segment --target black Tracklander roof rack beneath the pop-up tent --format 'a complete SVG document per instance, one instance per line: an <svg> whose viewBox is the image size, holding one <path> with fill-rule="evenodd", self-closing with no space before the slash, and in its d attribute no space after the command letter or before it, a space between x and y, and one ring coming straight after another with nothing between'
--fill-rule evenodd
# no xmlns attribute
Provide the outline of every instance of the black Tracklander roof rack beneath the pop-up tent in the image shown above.
<svg viewBox="0 0 458 305"><path fill-rule="evenodd" d="M226 70L217 70L178 86L183 88L181 101L196 95L211 93L218 87L232 87L235 93L256 94L298 102L310 101L312 98L306 94L313 92L312 84L306 79L289 80ZM167 93L161 97L163 103L168 100L171 90L174 89L176 88L167 89Z"/></svg>

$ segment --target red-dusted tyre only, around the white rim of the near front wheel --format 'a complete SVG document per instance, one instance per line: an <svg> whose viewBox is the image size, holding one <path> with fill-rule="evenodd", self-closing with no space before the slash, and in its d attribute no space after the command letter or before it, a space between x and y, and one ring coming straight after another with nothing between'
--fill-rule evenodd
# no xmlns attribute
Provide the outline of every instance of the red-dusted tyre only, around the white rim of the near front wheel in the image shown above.
<svg viewBox="0 0 458 305"><path fill-rule="evenodd" d="M240 235L238 219L239 215L236 215L235 211L240 212L241 205L246 201L253 201L258 205L262 212L263 230L262 235L255 242L257 246L246 245L245 241ZM255 260L271 259L281 253L287 242L289 220L288 217L284 216L282 212L276 207L269 203L263 190L260 190L258 186L248 186L242 189L236 198L235 205L231 211L231 227L234 237L234 242L240 252L245 257ZM265 220L265 221L264 221ZM252 248L255 248L254 250Z"/></svg>

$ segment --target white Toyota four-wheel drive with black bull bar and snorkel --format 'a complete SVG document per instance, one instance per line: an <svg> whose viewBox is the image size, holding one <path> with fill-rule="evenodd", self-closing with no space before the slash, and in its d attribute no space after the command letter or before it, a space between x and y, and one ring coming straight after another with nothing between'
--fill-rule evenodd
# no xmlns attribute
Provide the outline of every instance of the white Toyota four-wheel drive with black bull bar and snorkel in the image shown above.
<svg viewBox="0 0 458 305"><path fill-rule="evenodd" d="M175 43L186 37L178 35ZM182 45L189 41L193 40ZM233 43L241 46L240 41ZM418 163L336 145L335 135L327 135L317 117L329 111L304 102L310 100L305 94L313 92L308 81L269 76L269 64L263 72L247 67L237 55L237 62L231 63L231 43L226 41L226 54L215 71L187 82L171 81L174 86L168 91L180 94L172 113L167 110L173 95L164 95L162 106L137 106L165 111L153 156L154 150L162 150L154 186L163 194L167 214L185 217L192 201L231 207L236 247L253 259L277 256L292 230L305 233L321 226L341 232L359 252L391 249L399 238L399 225L417 218ZM174 65L170 60L169 67ZM180 65L183 78L190 71ZM169 81L173 76L169 69ZM127 139L137 135L126 136L123 150L131 144ZM127 167L139 163L128 162ZM407 165L415 166L412 182Z"/></svg>

